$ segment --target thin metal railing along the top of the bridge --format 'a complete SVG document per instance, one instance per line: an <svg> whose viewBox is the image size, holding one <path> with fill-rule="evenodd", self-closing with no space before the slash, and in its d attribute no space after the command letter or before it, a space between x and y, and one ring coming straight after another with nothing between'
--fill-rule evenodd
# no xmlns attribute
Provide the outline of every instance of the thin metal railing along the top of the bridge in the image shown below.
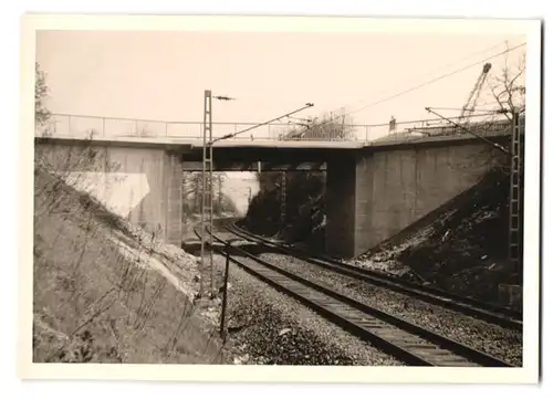
<svg viewBox="0 0 553 399"><path fill-rule="evenodd" d="M436 120L436 119L432 119ZM229 133L237 133L255 126L255 123L213 122L213 138ZM470 127L479 133L509 132L508 119L495 119L471 123ZM313 130L295 127L286 123L267 124L231 140L299 140L299 141L363 141L400 140L406 137L425 137L459 132L453 125L434 124L428 120L398 122L395 132L388 124L347 125L341 136L326 135L324 128L313 134ZM123 138L123 137L168 137L187 140L204 138L201 122L161 122L147 119L113 118L84 115L52 114L50 120L35 127L35 136L73 137L73 138Z"/></svg>

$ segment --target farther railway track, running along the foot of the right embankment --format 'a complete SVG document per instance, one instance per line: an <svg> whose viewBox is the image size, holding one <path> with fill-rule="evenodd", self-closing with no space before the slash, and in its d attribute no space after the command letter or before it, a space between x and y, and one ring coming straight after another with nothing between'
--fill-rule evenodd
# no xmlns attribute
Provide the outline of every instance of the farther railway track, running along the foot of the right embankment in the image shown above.
<svg viewBox="0 0 553 399"><path fill-rule="evenodd" d="M282 254L299 258L307 263L331 270L333 272L355 277L367 283L386 287L388 290L406 294L427 303L439 305L465 315L469 315L484 322L499 325L513 330L522 330L522 315L519 312L482 303L476 300L447 293L442 290L426 287L416 283L406 282L401 279L389 276L383 273L359 269L340 261L315 258L306 254L302 250L291 249L280 245L269 239L252 234L236 225L236 223L227 223L223 225L233 234L253 241L258 244L265 245Z"/></svg>

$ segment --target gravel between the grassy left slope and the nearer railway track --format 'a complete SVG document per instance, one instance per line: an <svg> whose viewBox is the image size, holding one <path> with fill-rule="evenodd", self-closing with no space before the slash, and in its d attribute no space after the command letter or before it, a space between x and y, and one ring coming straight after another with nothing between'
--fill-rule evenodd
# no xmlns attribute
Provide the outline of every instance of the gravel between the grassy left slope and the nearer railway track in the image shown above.
<svg viewBox="0 0 553 399"><path fill-rule="evenodd" d="M220 281L225 258L215 255L213 264ZM227 321L227 351L234 364L404 365L232 262Z"/></svg>

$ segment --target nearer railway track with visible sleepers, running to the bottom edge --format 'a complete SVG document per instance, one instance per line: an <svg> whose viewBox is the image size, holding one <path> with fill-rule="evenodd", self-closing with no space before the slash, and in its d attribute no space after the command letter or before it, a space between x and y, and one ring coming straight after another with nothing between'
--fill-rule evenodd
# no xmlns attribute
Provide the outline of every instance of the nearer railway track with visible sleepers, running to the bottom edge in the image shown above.
<svg viewBox="0 0 553 399"><path fill-rule="evenodd" d="M196 235L201 237L197 230L195 232ZM237 234L237 237L240 235ZM228 240L215 233L213 240L223 244L221 248L215 246L213 251L226 254ZM488 354L307 281L239 246L232 246L229 258L248 273L294 297L345 330L372 343L407 365L512 367Z"/></svg>

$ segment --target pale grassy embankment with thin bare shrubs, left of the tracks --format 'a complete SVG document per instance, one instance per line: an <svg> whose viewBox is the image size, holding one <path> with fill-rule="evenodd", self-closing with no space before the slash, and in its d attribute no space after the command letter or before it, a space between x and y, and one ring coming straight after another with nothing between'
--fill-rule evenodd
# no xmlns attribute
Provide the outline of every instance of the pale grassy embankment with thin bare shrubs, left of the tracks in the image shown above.
<svg viewBox="0 0 553 399"><path fill-rule="evenodd" d="M34 203L34 361L221 361L194 258L36 168Z"/></svg>

